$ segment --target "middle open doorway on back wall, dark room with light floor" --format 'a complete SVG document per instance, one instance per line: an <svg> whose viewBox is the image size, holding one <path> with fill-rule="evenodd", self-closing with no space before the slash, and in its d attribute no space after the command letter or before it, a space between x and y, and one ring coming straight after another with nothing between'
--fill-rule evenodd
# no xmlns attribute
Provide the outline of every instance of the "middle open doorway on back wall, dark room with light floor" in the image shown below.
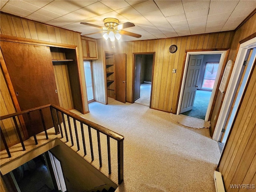
<svg viewBox="0 0 256 192"><path fill-rule="evenodd" d="M150 107L154 53L134 54L134 102Z"/></svg>

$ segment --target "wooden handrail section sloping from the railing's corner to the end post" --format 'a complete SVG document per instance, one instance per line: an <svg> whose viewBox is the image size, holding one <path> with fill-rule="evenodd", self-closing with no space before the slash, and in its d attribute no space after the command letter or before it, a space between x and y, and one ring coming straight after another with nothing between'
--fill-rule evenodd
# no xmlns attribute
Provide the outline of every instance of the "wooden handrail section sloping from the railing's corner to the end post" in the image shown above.
<svg viewBox="0 0 256 192"><path fill-rule="evenodd" d="M99 132L105 134L105 135L108 135L110 136L111 138L113 138L114 140L117 140L117 141L121 141L121 140L124 140L124 136L112 131L112 130L109 130L108 128L105 128L103 126L100 126L90 120L87 120L87 119L84 119L80 116L78 116L77 114L74 114L66 109L63 109L61 108L60 106L57 106L57 105L54 105L54 104L51 104L51 106L61 112L64 112L64 114L72 117L72 118L76 118L76 120L78 120L79 122L82 122L86 125L89 125L90 127L94 128L95 130L98 130Z"/></svg>

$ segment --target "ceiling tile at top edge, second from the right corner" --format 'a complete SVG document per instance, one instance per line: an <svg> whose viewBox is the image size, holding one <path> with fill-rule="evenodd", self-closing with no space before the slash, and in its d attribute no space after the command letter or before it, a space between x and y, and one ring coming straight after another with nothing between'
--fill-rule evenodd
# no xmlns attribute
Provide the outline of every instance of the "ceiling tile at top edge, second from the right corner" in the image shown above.
<svg viewBox="0 0 256 192"><path fill-rule="evenodd" d="M211 1L210 3L210 10L209 15L214 15L217 13L226 13L226 12L232 12L236 5L238 4L237 1Z"/></svg>

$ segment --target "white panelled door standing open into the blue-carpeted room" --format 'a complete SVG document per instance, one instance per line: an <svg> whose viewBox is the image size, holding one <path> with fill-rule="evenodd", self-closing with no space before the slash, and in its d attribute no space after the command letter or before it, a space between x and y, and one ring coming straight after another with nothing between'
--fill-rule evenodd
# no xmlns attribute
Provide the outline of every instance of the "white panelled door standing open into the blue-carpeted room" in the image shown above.
<svg viewBox="0 0 256 192"><path fill-rule="evenodd" d="M190 55L180 113L192 110L193 108L203 59L203 55Z"/></svg>

